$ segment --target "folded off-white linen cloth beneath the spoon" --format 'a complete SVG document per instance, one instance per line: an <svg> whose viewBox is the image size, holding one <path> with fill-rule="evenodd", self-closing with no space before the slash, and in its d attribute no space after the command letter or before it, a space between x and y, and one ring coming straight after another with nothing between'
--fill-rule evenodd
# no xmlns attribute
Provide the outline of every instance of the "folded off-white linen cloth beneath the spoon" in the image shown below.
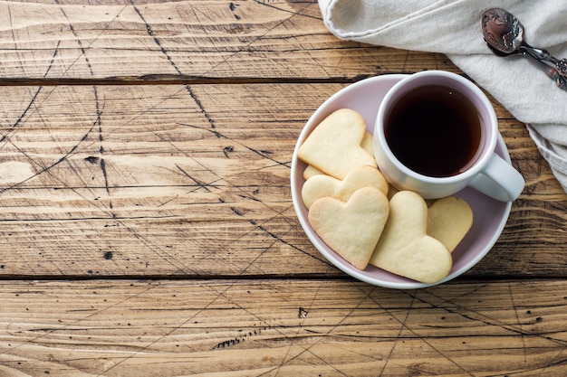
<svg viewBox="0 0 567 377"><path fill-rule="evenodd" d="M480 30L485 10L498 7L524 24L533 47L567 58L567 2L559 0L319 0L337 37L393 48L441 52L526 124L567 191L567 91L524 57L501 58Z"/></svg>

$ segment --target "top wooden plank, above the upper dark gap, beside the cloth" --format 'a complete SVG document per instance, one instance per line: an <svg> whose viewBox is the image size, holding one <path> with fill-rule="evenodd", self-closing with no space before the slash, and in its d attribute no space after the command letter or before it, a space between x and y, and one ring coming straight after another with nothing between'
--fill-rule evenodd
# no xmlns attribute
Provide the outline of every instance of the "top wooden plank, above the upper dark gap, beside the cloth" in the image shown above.
<svg viewBox="0 0 567 377"><path fill-rule="evenodd" d="M456 71L442 54L343 42L314 0L0 2L0 83L354 80Z"/></svg>

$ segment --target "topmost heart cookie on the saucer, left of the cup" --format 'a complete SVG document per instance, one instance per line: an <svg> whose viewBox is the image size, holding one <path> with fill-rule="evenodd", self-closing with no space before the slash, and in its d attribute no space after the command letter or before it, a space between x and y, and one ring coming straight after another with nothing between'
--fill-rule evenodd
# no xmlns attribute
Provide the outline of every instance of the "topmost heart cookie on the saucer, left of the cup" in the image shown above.
<svg viewBox="0 0 567 377"><path fill-rule="evenodd" d="M360 146L366 134L364 118L350 108L333 112L312 130L297 156L325 174L343 179L357 165L376 167L376 160Z"/></svg>

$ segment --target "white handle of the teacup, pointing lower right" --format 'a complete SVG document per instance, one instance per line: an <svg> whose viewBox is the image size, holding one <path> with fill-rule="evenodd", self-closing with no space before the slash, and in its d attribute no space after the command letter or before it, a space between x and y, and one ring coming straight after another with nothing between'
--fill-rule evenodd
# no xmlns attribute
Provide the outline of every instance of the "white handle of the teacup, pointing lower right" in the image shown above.
<svg viewBox="0 0 567 377"><path fill-rule="evenodd" d="M524 177L502 157L493 154L485 168L468 184L501 202L513 202L524 190Z"/></svg>

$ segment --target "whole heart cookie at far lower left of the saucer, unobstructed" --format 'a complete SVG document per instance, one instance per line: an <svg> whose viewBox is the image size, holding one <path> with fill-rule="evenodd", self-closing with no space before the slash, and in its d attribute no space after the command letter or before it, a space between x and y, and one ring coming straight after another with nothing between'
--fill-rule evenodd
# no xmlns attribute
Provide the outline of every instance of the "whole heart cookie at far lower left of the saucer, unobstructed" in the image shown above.
<svg viewBox="0 0 567 377"><path fill-rule="evenodd" d="M388 214L386 195L374 187L363 187L346 203L332 197L315 201L308 218L332 250L357 269L366 269Z"/></svg>

